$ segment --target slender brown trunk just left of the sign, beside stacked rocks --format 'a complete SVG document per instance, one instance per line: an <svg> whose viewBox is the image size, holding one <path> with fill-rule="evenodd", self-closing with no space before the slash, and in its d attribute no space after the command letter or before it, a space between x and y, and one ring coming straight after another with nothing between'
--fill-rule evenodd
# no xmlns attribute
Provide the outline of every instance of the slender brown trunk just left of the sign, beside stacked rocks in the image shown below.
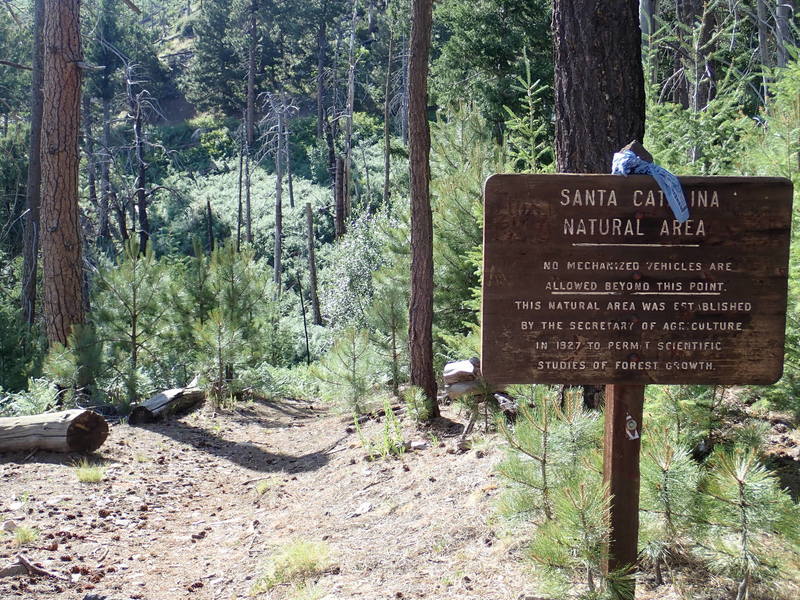
<svg viewBox="0 0 800 600"><path fill-rule="evenodd" d="M411 299L408 344L411 383L427 397L430 417L439 416L433 371L433 215L430 202L428 57L432 0L412 0L408 64L409 174L411 179Z"/></svg>

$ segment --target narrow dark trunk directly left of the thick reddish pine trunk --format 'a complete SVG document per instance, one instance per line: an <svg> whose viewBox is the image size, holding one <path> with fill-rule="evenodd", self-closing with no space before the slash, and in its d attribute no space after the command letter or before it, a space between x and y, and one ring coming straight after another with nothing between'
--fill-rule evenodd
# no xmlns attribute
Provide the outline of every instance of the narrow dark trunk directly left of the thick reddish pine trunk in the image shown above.
<svg viewBox="0 0 800 600"><path fill-rule="evenodd" d="M25 234L22 251L22 317L32 325L36 319L36 275L39 262L39 206L42 163L42 85L44 74L44 0L33 3L33 73L31 74L31 137L25 202Z"/></svg>

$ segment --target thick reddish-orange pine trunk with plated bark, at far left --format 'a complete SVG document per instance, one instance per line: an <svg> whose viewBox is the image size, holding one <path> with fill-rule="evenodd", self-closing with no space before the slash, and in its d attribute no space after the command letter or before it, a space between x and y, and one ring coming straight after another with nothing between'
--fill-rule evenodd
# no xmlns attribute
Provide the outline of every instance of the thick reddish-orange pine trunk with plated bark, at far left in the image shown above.
<svg viewBox="0 0 800 600"><path fill-rule="evenodd" d="M45 0L42 111L42 272L47 337L67 345L85 321L78 221L80 0Z"/></svg>

